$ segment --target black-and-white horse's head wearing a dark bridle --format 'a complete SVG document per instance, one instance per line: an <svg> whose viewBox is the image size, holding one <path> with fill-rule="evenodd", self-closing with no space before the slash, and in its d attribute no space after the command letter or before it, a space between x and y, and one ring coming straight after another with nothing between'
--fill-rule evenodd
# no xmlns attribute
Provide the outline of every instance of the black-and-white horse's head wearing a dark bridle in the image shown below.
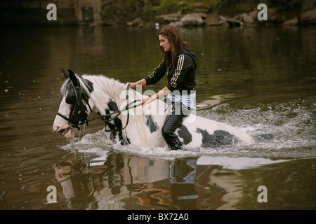
<svg viewBox="0 0 316 224"><path fill-rule="evenodd" d="M53 123L53 131L62 134L66 139L72 139L72 130L79 130L79 125L86 123L88 114L92 111L92 102L89 99L93 92L93 83L77 76L71 70L68 71L69 73L66 73L62 70L66 80L60 89L61 102Z"/></svg>

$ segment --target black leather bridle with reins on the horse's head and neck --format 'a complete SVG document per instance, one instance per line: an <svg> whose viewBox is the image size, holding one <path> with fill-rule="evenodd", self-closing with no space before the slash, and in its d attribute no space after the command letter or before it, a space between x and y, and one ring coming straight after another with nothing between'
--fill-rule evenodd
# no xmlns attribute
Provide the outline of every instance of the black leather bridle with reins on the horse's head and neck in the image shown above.
<svg viewBox="0 0 316 224"><path fill-rule="evenodd" d="M130 88L130 86L131 86L131 84L128 84L127 87L126 87L126 106L124 107L124 109L121 109L119 111L114 111L112 113L107 113L106 115L100 115L99 118L101 118L105 122L105 132L119 132L121 130L124 130L127 127L127 125L129 124L129 110L133 109L133 108L136 108L136 106L142 105L142 104L133 105L136 102L140 102L141 101L140 99L136 99L133 102L129 103L129 88ZM73 123L72 116L76 115L78 106L80 105L80 101L82 101L86 106L88 105L88 108L90 109L90 112L92 112L91 106L90 106L90 104L88 102L88 94L86 94L86 91L82 90L81 88L79 89L78 87L75 87L75 90L77 92L77 101L74 104L72 111L70 111L70 118L67 118L67 116L65 116L65 115L63 115L62 113L59 113L59 112L57 112L57 115L62 117L62 118L64 118L65 120L67 120L67 123L68 123L68 125L70 125L70 128L77 128L78 130L80 130L79 126L84 125L84 124L88 125L88 123L90 121L96 120L98 118L93 118L91 120L88 120L88 118L87 118L88 115L87 115L86 118L84 119L85 120L84 122L81 122L79 120L78 123ZM121 113L123 113L124 111L127 111L126 125L124 127L121 127L120 129L107 130L106 129L107 123L112 121L112 120L115 120L116 118L118 118L121 115ZM117 114L117 115L114 116L114 118L109 118L110 116L112 116L114 114Z"/></svg>

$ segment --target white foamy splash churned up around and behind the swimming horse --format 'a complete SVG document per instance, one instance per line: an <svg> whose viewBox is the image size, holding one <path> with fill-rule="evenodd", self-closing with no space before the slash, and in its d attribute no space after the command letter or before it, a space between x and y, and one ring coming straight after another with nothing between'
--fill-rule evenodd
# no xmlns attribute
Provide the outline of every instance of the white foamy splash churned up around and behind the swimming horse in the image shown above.
<svg viewBox="0 0 316 224"><path fill-rule="evenodd" d="M232 158L315 158L315 99L296 99L292 102L258 104L238 109L222 104L198 115L239 127L248 132L256 142L242 142L218 148L187 148L185 151L169 151L166 148L147 148L113 144L104 130L86 134L72 144L62 146L65 150L106 155L109 152L157 158L185 158L200 156L228 156ZM119 141L118 141L119 142Z"/></svg>

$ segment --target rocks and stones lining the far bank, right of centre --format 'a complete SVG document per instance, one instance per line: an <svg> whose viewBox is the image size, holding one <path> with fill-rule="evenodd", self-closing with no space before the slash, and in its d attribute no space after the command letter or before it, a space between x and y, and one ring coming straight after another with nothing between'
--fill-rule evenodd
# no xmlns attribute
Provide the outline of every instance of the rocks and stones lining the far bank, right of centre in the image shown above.
<svg viewBox="0 0 316 224"><path fill-rule="evenodd" d="M242 4L239 3L239 8ZM269 8L270 7L270 8ZM210 8L203 3L193 4L190 13L168 13L156 15L153 20L146 22L138 17L126 22L127 26L143 27L171 24L176 27L272 27L272 26L307 26L316 25L316 6L305 4L292 6L289 10L281 11L281 6L248 3L242 9ZM235 8L238 8L235 6ZM284 7L286 8L286 7Z"/></svg>

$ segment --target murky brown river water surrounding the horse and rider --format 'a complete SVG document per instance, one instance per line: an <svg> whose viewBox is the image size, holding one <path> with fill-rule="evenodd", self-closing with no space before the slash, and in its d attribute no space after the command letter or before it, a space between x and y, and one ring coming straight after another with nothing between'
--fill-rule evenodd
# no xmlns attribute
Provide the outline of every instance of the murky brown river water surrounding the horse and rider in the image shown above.
<svg viewBox="0 0 316 224"><path fill-rule="evenodd" d="M157 30L6 27L0 209L316 209L315 27L179 32L197 56L197 115L242 128L255 144L120 146L100 120L62 139L52 130L60 69L139 80L160 62Z"/></svg>

